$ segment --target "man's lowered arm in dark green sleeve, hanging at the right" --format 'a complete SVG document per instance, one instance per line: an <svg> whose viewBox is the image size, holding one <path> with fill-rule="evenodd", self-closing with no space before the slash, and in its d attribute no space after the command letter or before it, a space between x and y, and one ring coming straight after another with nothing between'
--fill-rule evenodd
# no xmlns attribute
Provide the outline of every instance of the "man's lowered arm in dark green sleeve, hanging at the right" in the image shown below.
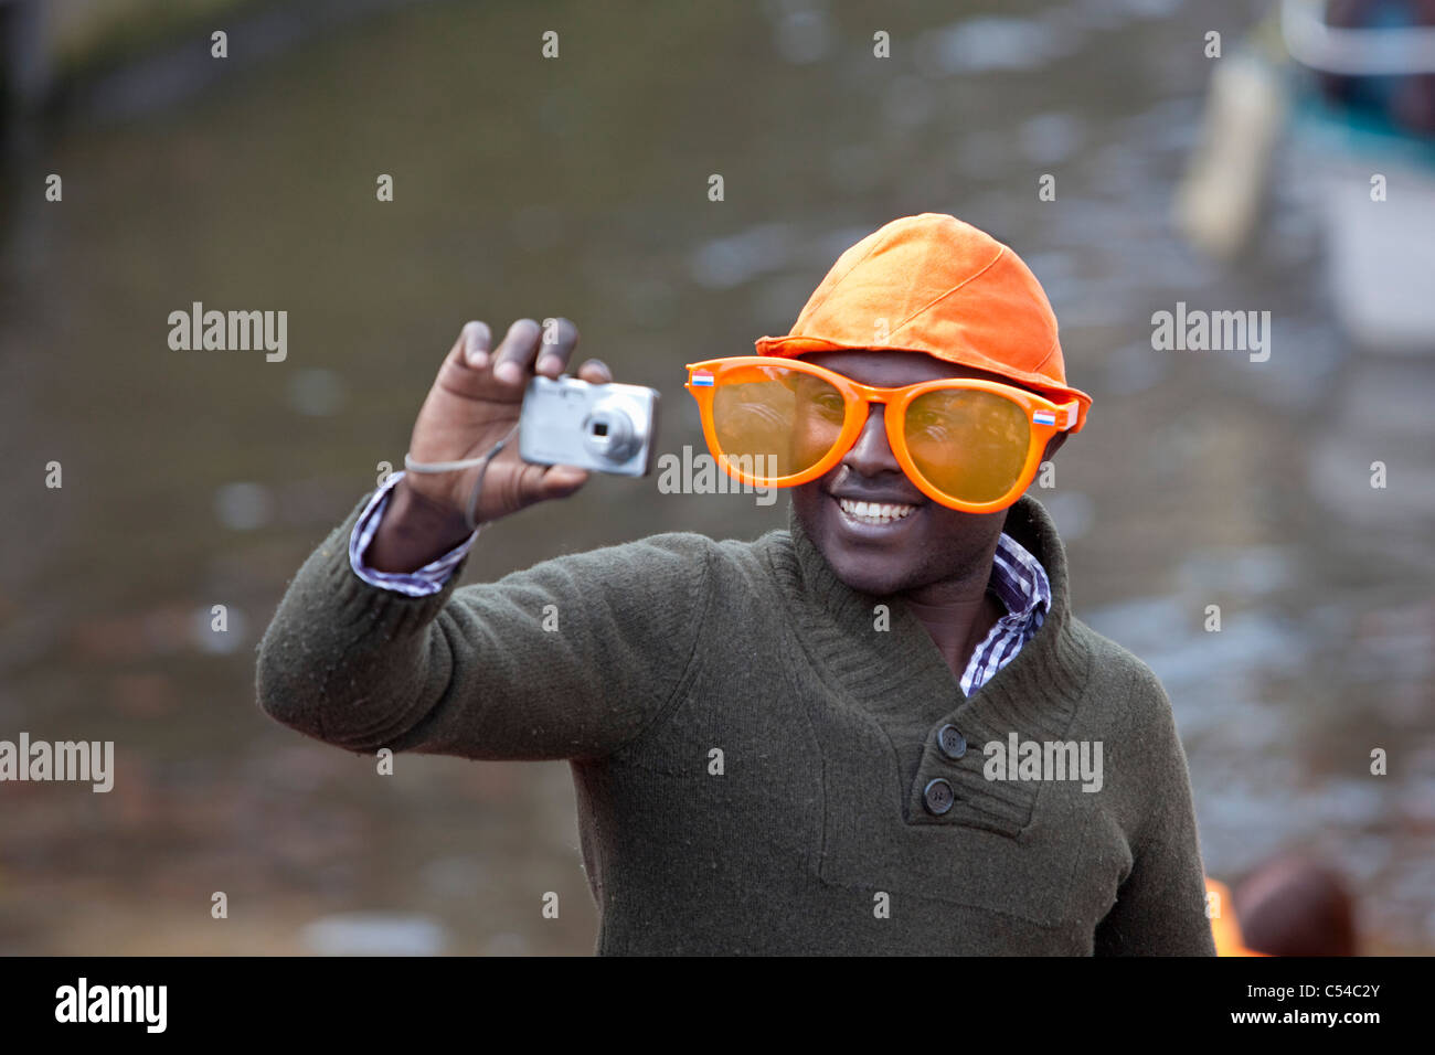
<svg viewBox="0 0 1435 1055"><path fill-rule="evenodd" d="M1142 741L1149 748L1155 794L1132 845L1131 873L1116 891L1116 904L1096 926L1095 953L1214 956L1185 751L1165 689L1149 669L1142 670L1134 693L1154 700Z"/></svg>

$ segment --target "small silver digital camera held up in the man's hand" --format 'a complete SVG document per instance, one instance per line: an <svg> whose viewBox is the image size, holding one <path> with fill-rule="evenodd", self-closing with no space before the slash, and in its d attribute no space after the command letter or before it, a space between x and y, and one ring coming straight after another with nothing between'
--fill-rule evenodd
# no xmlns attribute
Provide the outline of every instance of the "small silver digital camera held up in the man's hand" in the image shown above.
<svg viewBox="0 0 1435 1055"><path fill-rule="evenodd" d="M518 416L518 456L646 477L657 449L657 392L640 385L590 385L535 376Z"/></svg>

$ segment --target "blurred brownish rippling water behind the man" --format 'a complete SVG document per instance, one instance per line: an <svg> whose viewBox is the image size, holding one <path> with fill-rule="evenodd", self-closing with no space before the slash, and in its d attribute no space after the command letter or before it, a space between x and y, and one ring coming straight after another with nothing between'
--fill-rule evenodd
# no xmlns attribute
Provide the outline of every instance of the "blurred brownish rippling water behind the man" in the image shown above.
<svg viewBox="0 0 1435 1055"><path fill-rule="evenodd" d="M1234 266L1170 217L1203 37L1230 46L1263 4L339 7L218 4L62 69L63 102L11 129L0 738L113 739L118 774L108 795L0 787L0 952L591 952L564 764L400 755L380 778L258 711L258 636L402 464L466 319L575 320L580 353L663 392L662 449L702 449L682 365L785 333L842 248L921 211L1023 255L1095 396L1038 497L1076 613L1164 679L1208 871L1314 848L1368 952L1435 950L1435 359L1336 326L1329 151L1283 142ZM287 359L171 350L192 301L287 310ZM1152 350L1177 301L1271 311L1270 359ZM785 507L601 478L485 533L466 578L656 531L753 537Z"/></svg>

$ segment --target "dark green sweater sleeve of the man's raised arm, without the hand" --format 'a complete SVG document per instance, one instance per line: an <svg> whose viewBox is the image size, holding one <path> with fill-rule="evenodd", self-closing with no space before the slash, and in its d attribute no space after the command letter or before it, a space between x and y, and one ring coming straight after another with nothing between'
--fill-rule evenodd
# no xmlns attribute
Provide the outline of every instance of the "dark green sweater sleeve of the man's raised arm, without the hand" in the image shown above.
<svg viewBox="0 0 1435 1055"><path fill-rule="evenodd" d="M710 594L702 535L656 535L410 597L350 566L367 500L300 568L258 657L260 705L352 751L606 755L673 698Z"/></svg>

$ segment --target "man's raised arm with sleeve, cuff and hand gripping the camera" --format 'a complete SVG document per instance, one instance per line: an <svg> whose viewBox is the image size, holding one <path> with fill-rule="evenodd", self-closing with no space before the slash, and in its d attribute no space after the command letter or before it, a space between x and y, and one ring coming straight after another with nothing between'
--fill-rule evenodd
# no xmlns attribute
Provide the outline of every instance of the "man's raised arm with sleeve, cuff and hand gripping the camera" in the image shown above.
<svg viewBox="0 0 1435 1055"><path fill-rule="evenodd" d="M409 454L468 468L406 474L366 521L372 541L354 537L366 501L310 555L260 646L270 715L354 751L528 759L601 756L659 718L700 633L709 540L660 535L455 590L481 471L478 524L567 497L588 477L527 464L515 444L478 464L517 429L527 382L557 378L577 342L565 319L519 319L497 349L484 323L464 327ZM577 375L613 379L593 359ZM452 567L420 583L436 564Z"/></svg>

